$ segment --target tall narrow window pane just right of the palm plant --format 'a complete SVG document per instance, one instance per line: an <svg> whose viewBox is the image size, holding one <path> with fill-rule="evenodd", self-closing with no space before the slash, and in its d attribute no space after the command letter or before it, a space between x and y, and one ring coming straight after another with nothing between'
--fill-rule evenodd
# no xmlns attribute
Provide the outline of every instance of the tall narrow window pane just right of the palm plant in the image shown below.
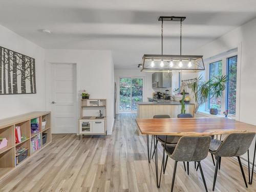
<svg viewBox="0 0 256 192"><path fill-rule="evenodd" d="M226 110L233 115L236 115L237 63L238 56L227 59Z"/></svg>

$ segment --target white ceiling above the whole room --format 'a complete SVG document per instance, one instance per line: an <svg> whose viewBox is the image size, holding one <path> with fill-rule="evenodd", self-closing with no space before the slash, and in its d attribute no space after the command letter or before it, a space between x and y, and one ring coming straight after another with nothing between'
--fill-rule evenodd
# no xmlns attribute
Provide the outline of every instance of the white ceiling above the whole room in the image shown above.
<svg viewBox="0 0 256 192"><path fill-rule="evenodd" d="M189 54L256 17L255 7L255 0L1 0L0 25L46 49L112 50L115 68L136 69L143 54L161 53L159 16L187 17ZM163 53L178 54L179 23L164 22L163 32Z"/></svg>

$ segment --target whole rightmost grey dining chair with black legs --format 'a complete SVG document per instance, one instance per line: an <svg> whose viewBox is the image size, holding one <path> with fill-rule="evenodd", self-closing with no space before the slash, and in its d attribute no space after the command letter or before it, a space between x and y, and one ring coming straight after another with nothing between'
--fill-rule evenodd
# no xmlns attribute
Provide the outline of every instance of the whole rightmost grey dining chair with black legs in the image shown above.
<svg viewBox="0 0 256 192"><path fill-rule="evenodd" d="M218 173L218 166L220 165L221 157L237 157L244 178L245 186L247 186L246 178L244 175L243 166L240 156L245 154L255 136L255 133L232 133L228 135L223 141L213 139L210 143L209 152L217 156L215 167L214 185L212 190L215 189L216 178Z"/></svg>

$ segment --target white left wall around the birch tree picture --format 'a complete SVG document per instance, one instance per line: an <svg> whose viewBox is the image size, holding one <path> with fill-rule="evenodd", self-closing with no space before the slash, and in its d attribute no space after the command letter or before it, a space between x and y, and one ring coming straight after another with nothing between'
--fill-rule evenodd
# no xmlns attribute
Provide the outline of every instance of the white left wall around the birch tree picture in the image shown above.
<svg viewBox="0 0 256 192"><path fill-rule="evenodd" d="M36 94L0 95L0 119L45 110L45 50L0 25L0 46L35 58Z"/></svg>

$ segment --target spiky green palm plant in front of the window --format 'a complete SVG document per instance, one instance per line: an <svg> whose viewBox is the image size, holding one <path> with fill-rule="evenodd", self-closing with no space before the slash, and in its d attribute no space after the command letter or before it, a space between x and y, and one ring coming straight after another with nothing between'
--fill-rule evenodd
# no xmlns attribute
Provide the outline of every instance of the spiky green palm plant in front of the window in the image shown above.
<svg viewBox="0 0 256 192"><path fill-rule="evenodd" d="M197 113L199 107L211 98L219 98L222 96L222 92L225 90L225 83L227 82L226 75L215 76L205 81L202 76L198 77L195 82L192 83L192 93L195 98L195 111ZM216 110L210 110L216 114ZM218 110L217 110L218 114ZM216 115L217 115L216 114Z"/></svg>

